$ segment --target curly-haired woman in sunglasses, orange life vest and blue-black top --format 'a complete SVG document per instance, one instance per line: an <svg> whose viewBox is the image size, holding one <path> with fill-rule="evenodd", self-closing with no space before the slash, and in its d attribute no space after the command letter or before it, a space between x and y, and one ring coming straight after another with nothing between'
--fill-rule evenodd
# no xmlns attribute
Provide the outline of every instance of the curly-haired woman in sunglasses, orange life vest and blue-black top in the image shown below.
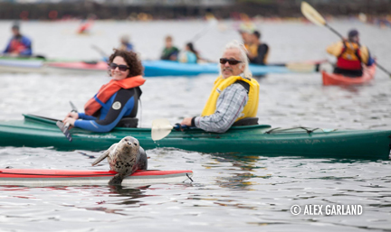
<svg viewBox="0 0 391 232"><path fill-rule="evenodd" d="M108 64L110 82L85 104L85 113L69 113L64 124L93 132L109 132L119 124L137 127L139 87L146 81L141 61L133 51L114 50Z"/></svg>

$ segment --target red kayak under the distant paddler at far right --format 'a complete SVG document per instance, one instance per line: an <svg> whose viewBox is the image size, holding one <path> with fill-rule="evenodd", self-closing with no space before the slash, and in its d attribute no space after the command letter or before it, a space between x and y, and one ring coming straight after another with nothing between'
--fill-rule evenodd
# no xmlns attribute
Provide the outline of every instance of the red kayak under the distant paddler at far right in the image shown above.
<svg viewBox="0 0 391 232"><path fill-rule="evenodd" d="M349 78L340 74L327 73L326 71L322 71L322 79L324 86L330 85L359 85L364 84L374 79L376 73L376 65L372 65L370 67L366 67L363 70L363 75L357 78Z"/></svg>

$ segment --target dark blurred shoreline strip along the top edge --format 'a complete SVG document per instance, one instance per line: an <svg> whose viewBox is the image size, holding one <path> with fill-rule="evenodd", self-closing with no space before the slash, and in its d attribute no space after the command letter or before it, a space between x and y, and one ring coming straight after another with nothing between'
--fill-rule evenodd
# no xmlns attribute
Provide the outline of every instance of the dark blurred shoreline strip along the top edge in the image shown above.
<svg viewBox="0 0 391 232"><path fill-rule="evenodd" d="M309 0L322 15L390 19L391 0ZM272 19L300 18L301 1L215 0L215 1L1 1L0 20L167 20L196 19L213 14L217 19L243 20L243 17Z"/></svg>

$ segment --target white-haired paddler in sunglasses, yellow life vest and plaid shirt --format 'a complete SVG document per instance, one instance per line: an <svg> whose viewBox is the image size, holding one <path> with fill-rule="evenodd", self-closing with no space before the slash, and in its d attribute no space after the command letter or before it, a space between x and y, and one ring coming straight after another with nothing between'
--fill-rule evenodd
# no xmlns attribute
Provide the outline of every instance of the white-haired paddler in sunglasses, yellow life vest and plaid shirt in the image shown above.
<svg viewBox="0 0 391 232"><path fill-rule="evenodd" d="M244 45L230 42L220 58L220 76L201 116L186 117L181 125L224 133L240 119L256 116L258 99L259 84L252 78Z"/></svg>

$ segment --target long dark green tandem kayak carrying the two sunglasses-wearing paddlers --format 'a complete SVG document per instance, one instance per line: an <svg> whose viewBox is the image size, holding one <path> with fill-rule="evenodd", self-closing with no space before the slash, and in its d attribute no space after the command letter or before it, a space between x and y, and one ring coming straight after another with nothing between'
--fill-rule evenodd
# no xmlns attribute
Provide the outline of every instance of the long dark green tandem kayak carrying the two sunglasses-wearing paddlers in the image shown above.
<svg viewBox="0 0 391 232"><path fill-rule="evenodd" d="M150 128L116 127L110 133L73 128L72 142L69 142L55 123L55 119L32 115L24 115L24 120L1 122L0 146L102 151L131 135L144 149L174 147L201 153L388 159L391 144L391 131L327 131L305 127L272 129L270 125L233 126L224 134L200 129L173 130L156 142L151 139Z"/></svg>

